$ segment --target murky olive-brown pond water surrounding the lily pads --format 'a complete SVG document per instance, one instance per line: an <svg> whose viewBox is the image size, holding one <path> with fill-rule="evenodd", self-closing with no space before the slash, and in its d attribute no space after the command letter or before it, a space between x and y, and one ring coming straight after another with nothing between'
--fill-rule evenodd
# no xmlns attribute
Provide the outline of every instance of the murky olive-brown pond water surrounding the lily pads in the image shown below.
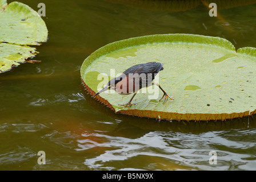
<svg viewBox="0 0 256 182"><path fill-rule="evenodd" d="M42 1L20 2L38 10ZM135 36L199 34L256 47L256 4L210 17L203 3L173 11L114 2L43 1L49 40L34 57L42 62L0 74L0 170L255 170L255 116L178 122L114 114L84 90L79 71L96 49Z"/></svg>

